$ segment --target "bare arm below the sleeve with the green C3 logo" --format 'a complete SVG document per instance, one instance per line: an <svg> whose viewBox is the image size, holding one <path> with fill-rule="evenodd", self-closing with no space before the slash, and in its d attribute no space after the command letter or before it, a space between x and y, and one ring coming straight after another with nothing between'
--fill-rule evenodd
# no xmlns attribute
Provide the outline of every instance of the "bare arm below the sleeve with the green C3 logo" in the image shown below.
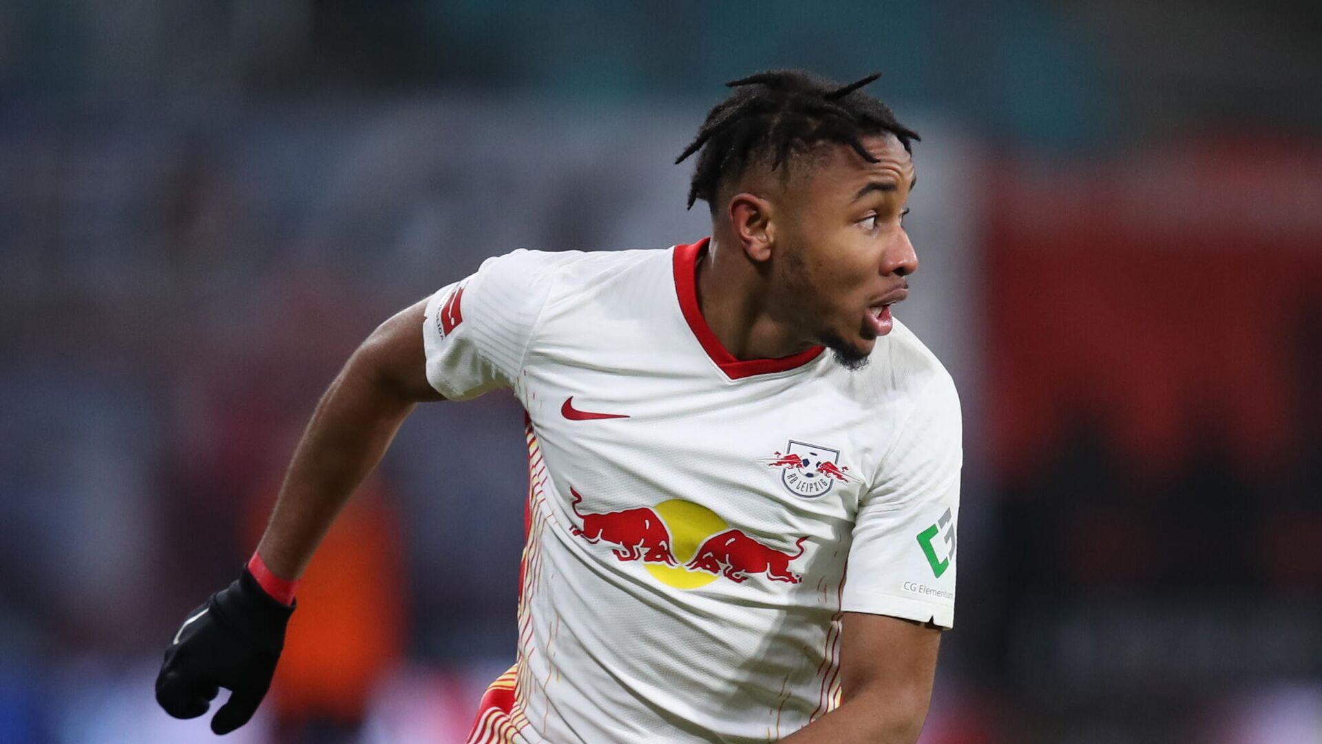
<svg viewBox="0 0 1322 744"><path fill-rule="evenodd" d="M845 613L841 706L785 744L917 741L932 699L941 631L908 620Z"/></svg>

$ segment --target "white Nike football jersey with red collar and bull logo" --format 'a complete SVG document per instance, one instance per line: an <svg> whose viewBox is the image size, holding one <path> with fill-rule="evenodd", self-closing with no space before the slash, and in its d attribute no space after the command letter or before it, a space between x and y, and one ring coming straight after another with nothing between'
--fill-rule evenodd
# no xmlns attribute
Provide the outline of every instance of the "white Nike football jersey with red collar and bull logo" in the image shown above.
<svg viewBox="0 0 1322 744"><path fill-rule="evenodd" d="M951 376L899 322L859 371L735 360L706 246L517 250L427 304L431 384L529 418L518 662L471 740L776 740L838 704L842 613L953 624Z"/></svg>

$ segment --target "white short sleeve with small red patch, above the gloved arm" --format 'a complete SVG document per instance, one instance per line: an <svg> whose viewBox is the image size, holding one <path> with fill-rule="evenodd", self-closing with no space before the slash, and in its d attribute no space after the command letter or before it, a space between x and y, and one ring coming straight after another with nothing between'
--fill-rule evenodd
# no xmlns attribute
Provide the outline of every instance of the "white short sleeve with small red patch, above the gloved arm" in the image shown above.
<svg viewBox="0 0 1322 744"><path fill-rule="evenodd" d="M477 397L518 380L551 273L564 254L520 249L488 258L477 273L427 302L427 381L449 400Z"/></svg>

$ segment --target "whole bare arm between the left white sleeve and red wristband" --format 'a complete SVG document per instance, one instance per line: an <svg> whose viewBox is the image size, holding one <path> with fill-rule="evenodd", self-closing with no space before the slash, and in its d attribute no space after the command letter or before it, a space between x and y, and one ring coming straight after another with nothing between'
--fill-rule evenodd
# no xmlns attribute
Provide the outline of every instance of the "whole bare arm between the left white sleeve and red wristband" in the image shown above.
<svg viewBox="0 0 1322 744"><path fill-rule="evenodd" d="M414 405L444 400L424 371L427 301L382 323L321 396L290 462L258 544L272 573L296 580L349 500L381 462Z"/></svg>

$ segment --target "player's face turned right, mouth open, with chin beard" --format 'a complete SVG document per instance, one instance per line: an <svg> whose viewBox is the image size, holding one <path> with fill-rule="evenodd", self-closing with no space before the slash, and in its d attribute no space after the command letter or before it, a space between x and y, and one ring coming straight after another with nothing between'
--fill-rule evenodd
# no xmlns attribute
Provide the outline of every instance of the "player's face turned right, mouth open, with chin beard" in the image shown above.
<svg viewBox="0 0 1322 744"><path fill-rule="evenodd" d="M772 258L777 304L851 369L891 331L890 303L904 299L904 277L917 270L902 225L914 159L891 135L862 143L876 163L828 144L809 172L791 179Z"/></svg>

